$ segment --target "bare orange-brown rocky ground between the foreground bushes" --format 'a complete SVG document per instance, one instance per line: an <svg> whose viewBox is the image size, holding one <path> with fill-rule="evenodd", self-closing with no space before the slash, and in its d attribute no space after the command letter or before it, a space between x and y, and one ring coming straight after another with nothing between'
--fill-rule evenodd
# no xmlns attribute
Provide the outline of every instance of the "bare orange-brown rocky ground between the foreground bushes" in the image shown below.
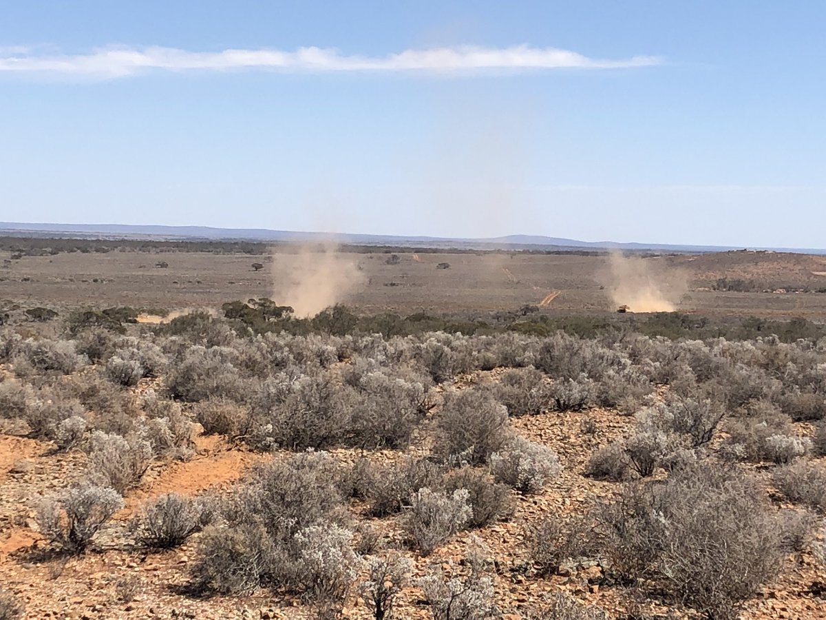
<svg viewBox="0 0 826 620"><path fill-rule="evenodd" d="M472 380L472 379L468 379ZM481 537L496 574L496 601L509 620L523 617L546 593L563 589L583 603L599 605L614 618L666 618L670 611L655 600L639 600L634 591L613 583L597 562L563 565L557 575L539 579L526 566L525 523L546 514L583 513L595 498L615 493L616 484L586 478L583 468L591 452L620 436L632 418L606 410L544 413L515 418L518 432L557 451L563 473L541 494L516 498L514 517L463 532L430 557L410 553L416 574L431 563L446 572L463 570L460 559ZM805 433L805 425L800 425ZM309 610L287 594L261 591L254 596L198 599L187 594L188 568L197 535L183 547L161 553L135 551L128 545L130 517L147 498L176 491L198 494L227 488L250 466L278 455L261 455L232 446L220 436L198 436L197 454L188 462L156 463L140 487L126 496L126 508L97 537L97 548L83 556L57 558L46 552L36 531L33 500L64 487L83 472L82 452L54 454L48 443L0 434L0 584L26 603L27 618L308 618ZM425 447L414 444L411 451ZM348 461L356 451L334 451ZM399 458L398 453L371 453L374 460ZM399 539L392 519L371 520L385 544ZM430 618L415 587L406 589L398 618ZM637 613L639 615L629 615ZM676 610L672 617L686 617ZM347 618L369 618L368 608L354 595ZM826 567L808 554L786 559L781 579L752 599L745 620L826 618Z"/></svg>

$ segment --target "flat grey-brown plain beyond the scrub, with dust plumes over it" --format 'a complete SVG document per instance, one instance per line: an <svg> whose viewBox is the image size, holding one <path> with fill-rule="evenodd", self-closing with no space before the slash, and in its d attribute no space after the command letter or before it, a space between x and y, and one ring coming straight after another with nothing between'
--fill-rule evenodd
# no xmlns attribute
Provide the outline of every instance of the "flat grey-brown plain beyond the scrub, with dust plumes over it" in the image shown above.
<svg viewBox="0 0 826 620"><path fill-rule="evenodd" d="M650 289L682 312L826 319L826 293L816 292L826 291L826 256L738 251L654 256L619 265L607 255L582 254L399 252L397 262L388 264L390 256L284 251L23 256L0 269L0 299L171 311L271 296L294 305L300 290L303 298L319 293L321 303L406 314L513 310L558 291L544 312L612 312L620 303L637 311L669 309L634 308L639 291ZM161 261L169 266L157 266ZM263 269L254 271L255 262ZM449 268L437 267L443 263ZM729 288L736 290L715 290L720 280L724 287L734 283Z"/></svg>

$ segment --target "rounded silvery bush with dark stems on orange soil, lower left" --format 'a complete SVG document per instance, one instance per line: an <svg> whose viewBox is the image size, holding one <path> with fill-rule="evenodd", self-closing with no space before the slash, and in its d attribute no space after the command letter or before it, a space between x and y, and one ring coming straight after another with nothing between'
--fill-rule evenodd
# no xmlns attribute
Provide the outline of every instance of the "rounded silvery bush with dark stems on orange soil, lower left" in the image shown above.
<svg viewBox="0 0 826 620"><path fill-rule="evenodd" d="M40 533L64 551L83 552L102 525L123 507L114 489L81 484L40 499L36 522Z"/></svg>

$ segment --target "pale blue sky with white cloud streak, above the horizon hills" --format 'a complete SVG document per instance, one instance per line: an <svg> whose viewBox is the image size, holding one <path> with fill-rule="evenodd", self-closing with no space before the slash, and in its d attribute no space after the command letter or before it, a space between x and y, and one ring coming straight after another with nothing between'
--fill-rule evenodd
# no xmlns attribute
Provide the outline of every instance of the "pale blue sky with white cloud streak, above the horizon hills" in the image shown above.
<svg viewBox="0 0 826 620"><path fill-rule="evenodd" d="M0 0L0 221L826 246L826 2Z"/></svg>

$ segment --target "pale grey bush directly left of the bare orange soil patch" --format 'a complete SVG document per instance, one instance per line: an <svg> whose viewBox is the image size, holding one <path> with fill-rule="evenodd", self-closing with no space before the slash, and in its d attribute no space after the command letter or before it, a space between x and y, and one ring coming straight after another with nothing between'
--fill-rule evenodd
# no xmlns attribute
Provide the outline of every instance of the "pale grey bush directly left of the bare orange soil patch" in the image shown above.
<svg viewBox="0 0 826 620"><path fill-rule="evenodd" d="M152 462L150 442L138 436L127 438L95 431L88 453L93 479L121 494L140 483Z"/></svg>

